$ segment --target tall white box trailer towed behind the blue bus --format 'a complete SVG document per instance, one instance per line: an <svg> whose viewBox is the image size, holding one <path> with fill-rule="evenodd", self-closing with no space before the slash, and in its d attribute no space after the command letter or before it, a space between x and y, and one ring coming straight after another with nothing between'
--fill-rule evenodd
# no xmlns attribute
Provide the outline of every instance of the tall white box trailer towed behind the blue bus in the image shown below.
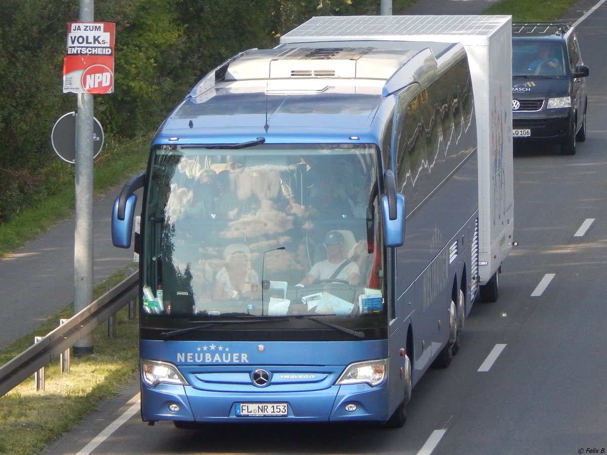
<svg viewBox="0 0 607 455"><path fill-rule="evenodd" d="M487 302L497 300L501 263L514 243L511 29L511 16L502 15L324 16L311 18L280 38L285 44L418 41L464 45L472 73L478 135L476 283Z"/></svg>

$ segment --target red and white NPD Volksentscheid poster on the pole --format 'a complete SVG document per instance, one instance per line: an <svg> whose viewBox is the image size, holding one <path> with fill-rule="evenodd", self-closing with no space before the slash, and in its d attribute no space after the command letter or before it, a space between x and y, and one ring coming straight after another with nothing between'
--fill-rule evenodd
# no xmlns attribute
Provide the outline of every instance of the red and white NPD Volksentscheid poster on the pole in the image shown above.
<svg viewBox="0 0 607 455"><path fill-rule="evenodd" d="M114 22L70 22L63 93L114 92Z"/></svg>

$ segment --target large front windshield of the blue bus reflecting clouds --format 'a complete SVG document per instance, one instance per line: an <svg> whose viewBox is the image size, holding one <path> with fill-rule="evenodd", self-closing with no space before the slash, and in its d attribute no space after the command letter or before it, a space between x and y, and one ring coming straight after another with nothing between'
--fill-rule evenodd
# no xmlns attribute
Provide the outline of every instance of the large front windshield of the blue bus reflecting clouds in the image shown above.
<svg viewBox="0 0 607 455"><path fill-rule="evenodd" d="M152 150L141 248L146 325L385 321L378 157L376 146L350 144Z"/></svg>

